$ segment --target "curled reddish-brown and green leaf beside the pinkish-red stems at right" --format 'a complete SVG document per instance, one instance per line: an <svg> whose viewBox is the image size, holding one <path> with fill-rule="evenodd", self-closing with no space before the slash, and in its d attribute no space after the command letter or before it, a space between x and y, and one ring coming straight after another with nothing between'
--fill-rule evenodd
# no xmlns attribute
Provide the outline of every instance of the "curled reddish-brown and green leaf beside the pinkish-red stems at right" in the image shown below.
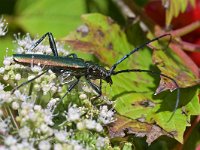
<svg viewBox="0 0 200 150"><path fill-rule="evenodd" d="M161 72L169 77L172 77L178 83L179 87L186 88L200 83L198 75L195 75L187 68L187 57L183 61L176 53L183 53L178 49L172 51L170 48L163 50L155 50L153 53L153 62L158 66ZM160 93L164 90L174 90L176 85L169 79L161 77L160 85L157 89Z"/></svg>

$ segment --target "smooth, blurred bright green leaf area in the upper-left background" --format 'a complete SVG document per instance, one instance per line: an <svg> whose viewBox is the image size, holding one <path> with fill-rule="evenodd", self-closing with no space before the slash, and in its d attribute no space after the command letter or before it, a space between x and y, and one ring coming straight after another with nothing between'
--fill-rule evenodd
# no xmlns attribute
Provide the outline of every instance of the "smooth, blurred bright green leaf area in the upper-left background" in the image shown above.
<svg viewBox="0 0 200 150"><path fill-rule="evenodd" d="M147 0L135 0L144 5ZM6 36L0 37L0 65L8 48L14 49L14 34L30 33L32 37L52 32L56 39L66 36L81 24L81 14L99 12L112 17L120 25L125 18L113 0L0 0L0 16L8 23Z"/></svg>

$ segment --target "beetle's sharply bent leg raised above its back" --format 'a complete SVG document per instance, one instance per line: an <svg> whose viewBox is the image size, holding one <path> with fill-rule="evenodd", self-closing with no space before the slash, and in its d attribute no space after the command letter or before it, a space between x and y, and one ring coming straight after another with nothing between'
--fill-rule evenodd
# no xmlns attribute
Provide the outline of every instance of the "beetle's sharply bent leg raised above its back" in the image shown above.
<svg viewBox="0 0 200 150"><path fill-rule="evenodd" d="M44 34L35 44L33 44L31 46L31 50L34 49L37 45L39 45L43 40L44 38L48 36L49 37L49 44L50 44L50 48L53 52L53 55L54 56L58 56L58 51L57 51L57 48L56 48L56 43L55 43L55 40L53 38L53 35L51 32L47 32L46 34Z"/></svg>

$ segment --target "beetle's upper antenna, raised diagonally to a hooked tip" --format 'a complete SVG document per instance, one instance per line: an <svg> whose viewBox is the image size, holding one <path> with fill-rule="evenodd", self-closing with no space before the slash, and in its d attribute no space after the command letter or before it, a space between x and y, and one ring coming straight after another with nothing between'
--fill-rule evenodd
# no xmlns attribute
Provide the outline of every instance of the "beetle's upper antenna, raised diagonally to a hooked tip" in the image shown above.
<svg viewBox="0 0 200 150"><path fill-rule="evenodd" d="M164 34L164 35L161 35L161 36L159 36L159 37L156 37L156 38L154 38L154 39L152 39L152 40L149 40L149 41L147 41L146 43L140 45L139 47L136 47L135 49L133 49L130 53L126 54L124 57L122 57L120 60L118 60L118 61L111 67L111 69L110 69L110 75L113 74L112 72L115 70L115 68L117 67L117 65L119 65L119 64L120 64L122 61L124 61L125 59L127 59L130 55L132 55L133 53L137 52L138 50L144 48L144 47L147 46L148 44L150 44L150 43L152 43L152 42L154 42L154 41L157 41L157 40L159 40L159 39L161 39L161 38L163 38L163 37L166 37L166 36L170 36L170 40L169 40L169 42L170 42L171 39L172 39L171 34Z"/></svg>

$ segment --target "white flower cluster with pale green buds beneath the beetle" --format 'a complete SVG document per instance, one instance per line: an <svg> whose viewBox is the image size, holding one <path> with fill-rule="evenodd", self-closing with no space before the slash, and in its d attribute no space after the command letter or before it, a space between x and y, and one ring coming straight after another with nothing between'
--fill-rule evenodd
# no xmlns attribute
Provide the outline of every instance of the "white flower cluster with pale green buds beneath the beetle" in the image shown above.
<svg viewBox="0 0 200 150"><path fill-rule="evenodd" d="M23 39L16 37L16 40L17 53L31 53L29 48L36 41L29 35ZM34 49L33 53L50 53L49 46L40 46L38 52ZM68 53L62 46L58 46L58 52ZM12 57L6 57L3 64L0 67L0 76L4 80L0 83L1 150L84 150L94 147L101 150L110 145L103 127L114 120L114 111L107 105L93 106L85 92L91 89L84 86L82 89L85 90L74 92L78 99L73 101L74 104L70 102L70 96L66 96L69 103L59 103L64 108L60 109L58 102L66 89L61 87L55 73L49 70L32 85L24 85L12 93L12 88L33 79L43 68L16 64Z"/></svg>

